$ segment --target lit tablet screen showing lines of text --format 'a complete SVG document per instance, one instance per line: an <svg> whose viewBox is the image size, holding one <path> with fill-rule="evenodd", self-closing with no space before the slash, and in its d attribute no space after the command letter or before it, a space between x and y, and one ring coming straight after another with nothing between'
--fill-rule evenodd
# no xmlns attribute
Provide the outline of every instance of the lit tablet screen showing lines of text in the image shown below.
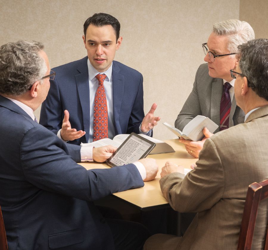
<svg viewBox="0 0 268 250"><path fill-rule="evenodd" d="M151 144L148 142L144 142L142 139L132 136L113 156L110 162L116 166L136 162L144 155L150 146Z"/></svg>

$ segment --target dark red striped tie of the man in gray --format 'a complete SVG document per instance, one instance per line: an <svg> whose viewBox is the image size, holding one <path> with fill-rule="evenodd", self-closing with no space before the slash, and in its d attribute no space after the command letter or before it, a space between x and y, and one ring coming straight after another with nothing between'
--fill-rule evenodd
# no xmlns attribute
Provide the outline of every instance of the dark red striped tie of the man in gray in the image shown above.
<svg viewBox="0 0 268 250"><path fill-rule="evenodd" d="M231 110L231 97L229 89L232 87L230 83L225 83L222 93L220 106L220 130L229 128L229 117Z"/></svg>

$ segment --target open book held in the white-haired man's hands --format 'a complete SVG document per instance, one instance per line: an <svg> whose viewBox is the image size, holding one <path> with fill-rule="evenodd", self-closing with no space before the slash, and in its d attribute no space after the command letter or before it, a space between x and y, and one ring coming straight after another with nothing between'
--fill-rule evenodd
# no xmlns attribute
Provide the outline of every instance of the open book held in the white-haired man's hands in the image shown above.
<svg viewBox="0 0 268 250"><path fill-rule="evenodd" d="M183 131L174 128L166 122L163 122L163 124L175 135L194 142L201 141L203 139L203 128L208 128L208 130L213 133L219 127L215 122L211 121L211 119L202 115L198 115L188 122L188 124L183 128Z"/></svg>

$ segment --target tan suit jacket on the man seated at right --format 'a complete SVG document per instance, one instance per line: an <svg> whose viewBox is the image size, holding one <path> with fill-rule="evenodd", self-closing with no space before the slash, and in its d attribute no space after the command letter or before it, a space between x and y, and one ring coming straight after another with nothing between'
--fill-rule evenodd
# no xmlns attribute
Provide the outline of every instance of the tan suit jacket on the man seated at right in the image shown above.
<svg viewBox="0 0 268 250"><path fill-rule="evenodd" d="M268 105L253 111L244 124L207 139L196 169L184 179L172 173L160 180L174 210L197 212L174 249L237 248L248 185L268 179L267 127ZM264 237L259 229L266 226L267 204L264 200L258 210L252 249L261 249L254 242Z"/></svg>

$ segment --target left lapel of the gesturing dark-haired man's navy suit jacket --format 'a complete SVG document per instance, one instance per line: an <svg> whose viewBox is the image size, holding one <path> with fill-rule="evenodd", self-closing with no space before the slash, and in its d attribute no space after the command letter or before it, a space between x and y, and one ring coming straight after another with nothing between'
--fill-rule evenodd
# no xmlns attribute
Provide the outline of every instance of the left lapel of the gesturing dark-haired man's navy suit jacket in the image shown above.
<svg viewBox="0 0 268 250"><path fill-rule="evenodd" d="M78 74L75 75L77 91L82 108L82 119L84 131L86 132L86 142L89 139L89 126L90 126L90 103L89 103L89 79L88 79L88 57L83 58L77 64Z"/></svg>

